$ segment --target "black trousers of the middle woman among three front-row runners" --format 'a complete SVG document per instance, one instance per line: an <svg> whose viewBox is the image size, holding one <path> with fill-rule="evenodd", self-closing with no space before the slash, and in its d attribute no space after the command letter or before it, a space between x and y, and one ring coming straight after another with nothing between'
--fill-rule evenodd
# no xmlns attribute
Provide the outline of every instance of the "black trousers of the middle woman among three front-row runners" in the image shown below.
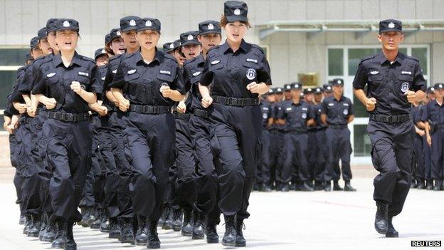
<svg viewBox="0 0 444 250"><path fill-rule="evenodd" d="M127 112L125 155L132 167L129 193L137 215L157 222L175 157L174 117Z"/></svg>

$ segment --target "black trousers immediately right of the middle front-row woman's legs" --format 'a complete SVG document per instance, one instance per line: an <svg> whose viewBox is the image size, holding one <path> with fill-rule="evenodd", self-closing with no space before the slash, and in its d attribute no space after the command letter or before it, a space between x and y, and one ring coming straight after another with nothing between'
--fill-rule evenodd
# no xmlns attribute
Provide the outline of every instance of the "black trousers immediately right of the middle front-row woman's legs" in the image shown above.
<svg viewBox="0 0 444 250"><path fill-rule="evenodd" d="M196 200L196 157L191 138L190 115L176 117L176 184L173 204L191 210Z"/></svg>

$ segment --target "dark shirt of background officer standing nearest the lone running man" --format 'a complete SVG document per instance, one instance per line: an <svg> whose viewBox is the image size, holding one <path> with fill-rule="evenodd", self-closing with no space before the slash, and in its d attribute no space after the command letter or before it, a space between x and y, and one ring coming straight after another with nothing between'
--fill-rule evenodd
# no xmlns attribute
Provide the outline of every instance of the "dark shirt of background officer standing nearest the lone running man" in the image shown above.
<svg viewBox="0 0 444 250"><path fill-rule="evenodd" d="M330 96L322 101L321 113L327 115L329 125L347 125L349 116L354 115L353 103L344 95L339 100Z"/></svg>

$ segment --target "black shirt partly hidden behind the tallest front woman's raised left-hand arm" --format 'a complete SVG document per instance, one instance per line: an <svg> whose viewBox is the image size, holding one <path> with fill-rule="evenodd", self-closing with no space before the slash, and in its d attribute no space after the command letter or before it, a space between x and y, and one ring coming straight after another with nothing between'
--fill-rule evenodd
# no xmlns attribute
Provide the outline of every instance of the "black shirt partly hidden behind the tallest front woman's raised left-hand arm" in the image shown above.
<svg viewBox="0 0 444 250"><path fill-rule="evenodd" d="M194 108L203 109L201 105L201 93L199 92L199 80L201 80L201 74L203 71L203 65L205 60L203 56L197 56L187 60L184 63L184 83L186 92L190 91L188 98L185 101L186 110L190 112Z"/></svg>

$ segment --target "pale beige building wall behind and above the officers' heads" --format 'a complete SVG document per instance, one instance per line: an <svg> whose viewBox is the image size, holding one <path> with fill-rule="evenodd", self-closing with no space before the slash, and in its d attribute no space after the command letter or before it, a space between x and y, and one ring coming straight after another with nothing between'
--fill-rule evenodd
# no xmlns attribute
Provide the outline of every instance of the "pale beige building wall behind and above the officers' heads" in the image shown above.
<svg viewBox="0 0 444 250"><path fill-rule="evenodd" d="M200 21L218 19L223 0L0 0L0 46L26 45L38 28L51 17L80 21L82 41L79 53L92 56L102 46L105 33L119 25L122 16L152 16L162 21L162 41L196 29ZM443 0L250 0L252 24L276 20L332 19L444 19ZM355 38L354 33L275 33L263 41L258 28L247 40L270 46L270 66L275 85L296 80L298 72L318 72L326 78L327 45L376 44L376 33ZM421 32L408 36L406 43L430 43L430 80L444 81L440 67L444 58L444 32Z"/></svg>

